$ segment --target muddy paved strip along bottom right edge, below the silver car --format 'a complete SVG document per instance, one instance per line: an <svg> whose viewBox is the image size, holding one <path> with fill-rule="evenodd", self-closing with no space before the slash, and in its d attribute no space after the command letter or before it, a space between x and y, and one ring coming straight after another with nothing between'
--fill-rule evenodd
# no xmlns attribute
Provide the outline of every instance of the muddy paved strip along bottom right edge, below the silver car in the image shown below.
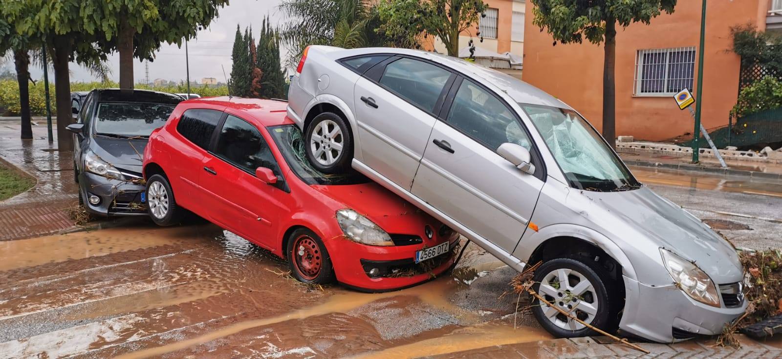
<svg viewBox="0 0 782 359"><path fill-rule="evenodd" d="M778 340L776 343L762 344L743 336L740 338L741 348L719 347L713 340L707 339L676 344L639 343L640 347L649 350L649 354L641 353L606 337L551 339L485 347L431 358L782 358L782 349Z"/></svg>

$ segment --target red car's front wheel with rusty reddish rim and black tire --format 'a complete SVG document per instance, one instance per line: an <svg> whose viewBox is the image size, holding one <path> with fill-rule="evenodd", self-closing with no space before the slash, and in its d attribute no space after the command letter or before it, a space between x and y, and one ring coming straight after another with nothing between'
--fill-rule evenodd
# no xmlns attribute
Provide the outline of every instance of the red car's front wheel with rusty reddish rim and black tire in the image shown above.
<svg viewBox="0 0 782 359"><path fill-rule="evenodd" d="M300 228L291 233L285 256L292 275L300 282L326 284L334 281L332 258L321 237L310 229Z"/></svg>

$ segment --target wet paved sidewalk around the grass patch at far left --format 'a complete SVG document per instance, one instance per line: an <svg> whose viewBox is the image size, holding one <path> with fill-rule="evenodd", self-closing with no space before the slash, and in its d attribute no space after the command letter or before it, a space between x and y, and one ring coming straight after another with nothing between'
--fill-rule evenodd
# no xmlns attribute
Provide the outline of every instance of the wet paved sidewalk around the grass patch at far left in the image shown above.
<svg viewBox="0 0 782 359"><path fill-rule="evenodd" d="M0 161L26 172L38 183L23 194L0 201L0 241L76 228L67 213L77 203L72 153L57 151L56 141L48 143L45 125L33 126L32 140L19 137L20 125L0 122Z"/></svg>

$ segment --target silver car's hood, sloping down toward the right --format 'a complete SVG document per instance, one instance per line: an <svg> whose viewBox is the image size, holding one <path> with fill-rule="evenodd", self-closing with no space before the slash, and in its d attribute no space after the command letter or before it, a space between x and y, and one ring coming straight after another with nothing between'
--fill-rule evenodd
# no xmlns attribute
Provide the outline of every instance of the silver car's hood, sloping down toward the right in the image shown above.
<svg viewBox="0 0 782 359"><path fill-rule="evenodd" d="M658 196L648 187L622 192L581 193L604 210L603 215L626 223L627 227L634 229L634 234L643 236L644 240L695 261L716 284L741 280L741 262L730 243L694 215ZM633 243L633 239L624 240Z"/></svg>

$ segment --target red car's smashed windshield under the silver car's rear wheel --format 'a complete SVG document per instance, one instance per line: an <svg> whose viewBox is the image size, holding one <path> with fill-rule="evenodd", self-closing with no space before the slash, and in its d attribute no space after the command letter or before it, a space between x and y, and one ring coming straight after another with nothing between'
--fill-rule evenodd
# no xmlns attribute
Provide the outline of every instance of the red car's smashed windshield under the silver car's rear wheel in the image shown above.
<svg viewBox="0 0 782 359"><path fill-rule="evenodd" d="M309 184L358 184L367 183L369 179L359 172L350 170L344 174L325 174L314 169L307 160L307 152L304 151L304 137L299 127L294 125L273 126L269 128L271 137L274 137L274 143L285 157L296 176Z"/></svg>

